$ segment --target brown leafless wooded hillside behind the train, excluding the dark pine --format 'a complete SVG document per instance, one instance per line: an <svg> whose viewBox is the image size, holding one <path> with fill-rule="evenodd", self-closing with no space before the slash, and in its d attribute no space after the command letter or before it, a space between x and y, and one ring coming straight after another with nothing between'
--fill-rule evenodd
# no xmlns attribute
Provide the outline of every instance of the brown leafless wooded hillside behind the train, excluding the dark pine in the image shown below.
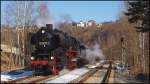
<svg viewBox="0 0 150 84"><path fill-rule="evenodd" d="M100 44L106 59L123 61L129 66L132 75L149 73L149 33L145 33L143 58L139 47L139 32L128 21L127 16L120 17L116 22L103 24L100 28L96 26L83 28L71 24L62 24L60 28L87 46Z"/></svg>

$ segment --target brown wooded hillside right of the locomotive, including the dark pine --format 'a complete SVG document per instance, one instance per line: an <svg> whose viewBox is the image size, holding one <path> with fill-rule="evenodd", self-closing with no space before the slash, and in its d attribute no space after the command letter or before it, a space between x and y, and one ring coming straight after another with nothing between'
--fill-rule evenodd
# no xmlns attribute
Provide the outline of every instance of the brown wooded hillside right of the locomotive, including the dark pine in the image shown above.
<svg viewBox="0 0 150 84"><path fill-rule="evenodd" d="M116 22L101 28L62 24L62 30L88 46L99 43L107 59L124 62L132 75L149 74L149 1L125 3L125 15Z"/></svg>

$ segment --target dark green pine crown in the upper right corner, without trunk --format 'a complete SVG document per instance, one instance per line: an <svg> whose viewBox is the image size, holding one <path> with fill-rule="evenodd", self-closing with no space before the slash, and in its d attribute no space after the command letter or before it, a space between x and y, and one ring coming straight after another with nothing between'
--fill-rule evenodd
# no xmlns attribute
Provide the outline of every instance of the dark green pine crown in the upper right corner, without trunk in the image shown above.
<svg viewBox="0 0 150 84"><path fill-rule="evenodd" d="M129 1L127 11L129 22L138 23L138 32L149 32L149 1Z"/></svg>

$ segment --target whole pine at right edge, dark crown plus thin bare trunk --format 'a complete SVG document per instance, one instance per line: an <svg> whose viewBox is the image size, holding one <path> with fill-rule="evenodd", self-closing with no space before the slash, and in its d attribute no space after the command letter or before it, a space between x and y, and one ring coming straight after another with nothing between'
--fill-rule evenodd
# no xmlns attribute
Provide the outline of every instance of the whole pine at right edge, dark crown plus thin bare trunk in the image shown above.
<svg viewBox="0 0 150 84"><path fill-rule="evenodd" d="M130 23L136 23L137 31L139 33L139 48L141 50L141 60L143 69L142 72L146 71L146 56L145 56L145 34L149 33L149 1L138 0L128 1L128 9L125 15L128 16Z"/></svg>

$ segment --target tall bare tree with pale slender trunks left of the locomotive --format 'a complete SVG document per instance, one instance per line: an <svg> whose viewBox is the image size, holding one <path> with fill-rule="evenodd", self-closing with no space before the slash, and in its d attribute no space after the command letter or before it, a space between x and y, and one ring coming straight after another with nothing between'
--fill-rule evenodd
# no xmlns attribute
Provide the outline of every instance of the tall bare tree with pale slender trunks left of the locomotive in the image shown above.
<svg viewBox="0 0 150 84"><path fill-rule="evenodd" d="M32 3L32 4L31 4ZM27 26L32 25L32 20L31 15L34 13L33 12L33 2L30 1L14 1L10 2L9 4L6 5L8 10L6 11L7 18L6 18L6 23L13 24L13 26L16 27L16 33L17 33L17 40L14 40L14 42L17 43L17 47L19 49L19 54L15 56L14 61L15 65L19 66L24 66L24 60L25 60L25 46L26 46L26 36L27 32ZM12 11L14 10L14 11ZM11 12L11 13L10 13ZM9 14L9 15L8 15ZM10 18L13 18L11 20Z"/></svg>

